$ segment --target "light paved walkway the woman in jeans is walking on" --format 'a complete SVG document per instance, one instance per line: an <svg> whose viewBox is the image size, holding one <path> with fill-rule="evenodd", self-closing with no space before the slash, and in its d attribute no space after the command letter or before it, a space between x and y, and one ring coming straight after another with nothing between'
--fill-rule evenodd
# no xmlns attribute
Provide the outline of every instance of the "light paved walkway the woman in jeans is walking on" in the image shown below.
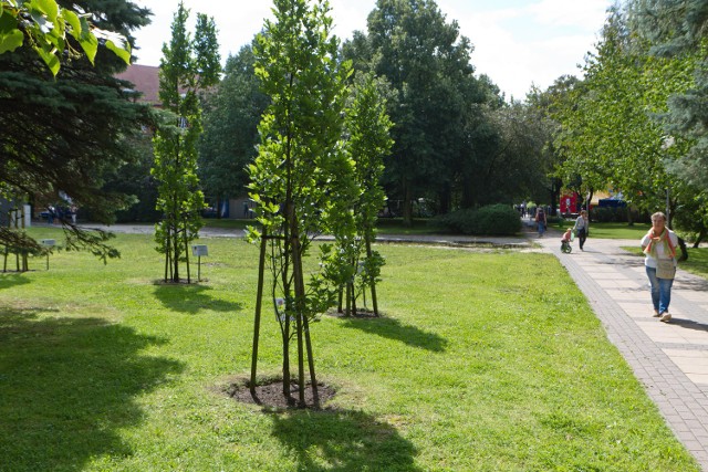
<svg viewBox="0 0 708 472"><path fill-rule="evenodd" d="M591 232L592 235L592 232ZM565 266L676 437L708 472L708 282L678 270L670 323L652 316L644 259L621 247L638 240L573 242L561 253L560 233L529 238Z"/></svg>

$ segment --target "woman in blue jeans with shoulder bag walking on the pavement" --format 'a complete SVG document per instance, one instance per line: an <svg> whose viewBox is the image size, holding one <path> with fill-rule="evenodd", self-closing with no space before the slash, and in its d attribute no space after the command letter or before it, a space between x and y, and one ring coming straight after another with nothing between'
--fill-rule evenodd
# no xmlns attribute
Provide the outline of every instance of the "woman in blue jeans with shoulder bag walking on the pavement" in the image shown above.
<svg viewBox="0 0 708 472"><path fill-rule="evenodd" d="M644 265L652 285L654 316L664 323L671 319L668 305L676 275L677 245L678 237L666 228L666 216L660 211L652 214L652 229L642 238L642 249L646 254Z"/></svg>

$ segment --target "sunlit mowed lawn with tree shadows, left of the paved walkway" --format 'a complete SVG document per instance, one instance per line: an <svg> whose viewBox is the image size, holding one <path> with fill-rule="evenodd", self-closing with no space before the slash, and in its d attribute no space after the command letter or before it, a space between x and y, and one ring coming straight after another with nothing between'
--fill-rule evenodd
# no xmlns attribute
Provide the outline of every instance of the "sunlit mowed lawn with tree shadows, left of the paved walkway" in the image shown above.
<svg viewBox="0 0 708 472"><path fill-rule="evenodd" d="M312 325L336 397L266 412L225 394L250 371L258 249L200 242L192 285L132 234L107 265L0 275L0 470L699 470L549 254L378 245L384 316ZM267 308L259 373L280 359Z"/></svg>

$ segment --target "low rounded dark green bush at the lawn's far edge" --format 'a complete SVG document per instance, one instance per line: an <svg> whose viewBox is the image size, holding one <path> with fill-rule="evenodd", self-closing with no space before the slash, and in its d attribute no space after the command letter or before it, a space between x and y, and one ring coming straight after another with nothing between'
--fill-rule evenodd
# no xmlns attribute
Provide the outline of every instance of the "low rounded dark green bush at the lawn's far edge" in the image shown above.
<svg viewBox="0 0 708 472"><path fill-rule="evenodd" d="M477 210L458 210L435 219L451 233L473 235L514 235L521 231L519 212L507 204L490 204Z"/></svg>

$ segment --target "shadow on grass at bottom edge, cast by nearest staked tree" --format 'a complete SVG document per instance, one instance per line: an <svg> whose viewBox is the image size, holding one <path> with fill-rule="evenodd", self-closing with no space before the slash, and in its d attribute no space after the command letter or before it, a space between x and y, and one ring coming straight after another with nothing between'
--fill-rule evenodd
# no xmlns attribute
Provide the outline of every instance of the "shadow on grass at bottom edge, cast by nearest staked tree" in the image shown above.
<svg viewBox="0 0 708 472"><path fill-rule="evenodd" d="M298 458L298 470L421 472L414 445L363 412L299 410L272 420L273 436Z"/></svg>

